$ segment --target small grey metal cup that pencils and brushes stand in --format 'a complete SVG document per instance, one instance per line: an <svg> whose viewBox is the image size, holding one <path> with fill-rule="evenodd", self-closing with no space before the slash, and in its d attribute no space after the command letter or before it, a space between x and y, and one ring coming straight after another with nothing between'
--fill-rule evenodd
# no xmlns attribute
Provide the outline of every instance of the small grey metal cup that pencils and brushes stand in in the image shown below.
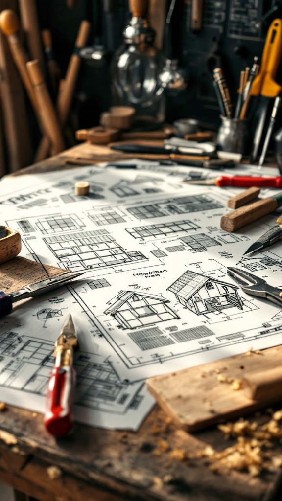
<svg viewBox="0 0 282 501"><path fill-rule="evenodd" d="M221 116L221 125L218 129L216 146L218 150L231 153L248 153L249 148L249 120Z"/></svg>

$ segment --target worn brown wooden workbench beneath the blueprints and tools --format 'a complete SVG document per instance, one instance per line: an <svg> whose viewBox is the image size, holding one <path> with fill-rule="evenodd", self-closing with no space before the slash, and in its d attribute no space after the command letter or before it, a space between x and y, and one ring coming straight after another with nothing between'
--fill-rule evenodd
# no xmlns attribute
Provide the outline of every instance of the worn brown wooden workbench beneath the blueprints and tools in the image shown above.
<svg viewBox="0 0 282 501"><path fill-rule="evenodd" d="M75 167L66 158L129 156L111 151L83 143L16 175ZM0 412L0 480L40 501L279 501L280 469L252 478L214 472L197 457L207 445L219 451L232 444L216 427L194 435L177 429L157 406L138 432L76 424L71 436L56 441L41 414L9 406ZM282 446L275 447L282 454ZM172 458L175 449L186 458ZM60 476L51 479L50 466L59 467Z"/></svg>

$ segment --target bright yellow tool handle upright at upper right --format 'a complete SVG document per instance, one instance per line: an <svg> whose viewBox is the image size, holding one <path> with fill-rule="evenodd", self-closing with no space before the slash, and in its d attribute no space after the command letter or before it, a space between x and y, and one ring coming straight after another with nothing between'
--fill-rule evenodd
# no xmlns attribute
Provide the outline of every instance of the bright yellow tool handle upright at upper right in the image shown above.
<svg viewBox="0 0 282 501"><path fill-rule="evenodd" d="M274 19L268 28L260 70L252 83L251 96L276 97L280 94L282 87L276 84L275 76L281 54L282 19Z"/></svg>

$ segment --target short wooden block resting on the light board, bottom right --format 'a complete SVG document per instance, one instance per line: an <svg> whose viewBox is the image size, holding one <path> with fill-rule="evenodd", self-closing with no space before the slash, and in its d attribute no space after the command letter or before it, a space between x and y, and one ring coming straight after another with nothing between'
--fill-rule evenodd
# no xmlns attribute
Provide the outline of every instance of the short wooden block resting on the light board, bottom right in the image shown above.
<svg viewBox="0 0 282 501"><path fill-rule="evenodd" d="M252 400L282 396L282 366L250 372L242 380L242 389Z"/></svg>

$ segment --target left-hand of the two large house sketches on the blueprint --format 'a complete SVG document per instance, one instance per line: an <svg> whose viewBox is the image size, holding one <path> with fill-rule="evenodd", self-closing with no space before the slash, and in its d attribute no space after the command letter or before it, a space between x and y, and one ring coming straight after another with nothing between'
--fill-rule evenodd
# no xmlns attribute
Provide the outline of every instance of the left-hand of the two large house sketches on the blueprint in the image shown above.
<svg viewBox="0 0 282 501"><path fill-rule="evenodd" d="M130 291L120 293L110 300L104 312L110 314L121 329L135 329L179 318L167 305L170 301L161 296Z"/></svg>

